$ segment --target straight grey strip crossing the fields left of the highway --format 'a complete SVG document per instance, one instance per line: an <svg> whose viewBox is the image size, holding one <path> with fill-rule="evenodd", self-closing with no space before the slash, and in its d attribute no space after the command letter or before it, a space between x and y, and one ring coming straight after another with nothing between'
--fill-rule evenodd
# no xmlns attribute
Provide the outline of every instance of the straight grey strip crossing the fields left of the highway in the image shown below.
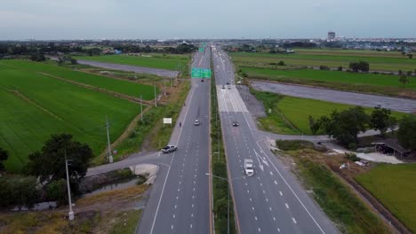
<svg viewBox="0 0 416 234"><path fill-rule="evenodd" d="M97 66L97 67L112 69L112 70L128 71L128 72L134 72L134 73L140 73L140 74L156 74L158 76L165 76L165 77L176 77L179 74L177 71L156 69L156 68L143 67L143 66L128 66L128 65L102 63L102 62L79 60L79 59L77 59L76 61L79 64Z"/></svg>

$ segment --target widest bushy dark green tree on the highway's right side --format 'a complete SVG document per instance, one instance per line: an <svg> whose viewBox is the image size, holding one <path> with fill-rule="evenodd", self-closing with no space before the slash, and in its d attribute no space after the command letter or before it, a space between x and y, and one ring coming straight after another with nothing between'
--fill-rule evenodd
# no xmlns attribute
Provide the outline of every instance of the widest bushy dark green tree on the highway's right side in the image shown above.
<svg viewBox="0 0 416 234"><path fill-rule="evenodd" d="M370 120L363 107L356 106L342 112L334 110L329 117L322 116L318 122L319 129L324 129L327 135L349 147L358 143L358 133L365 130Z"/></svg>

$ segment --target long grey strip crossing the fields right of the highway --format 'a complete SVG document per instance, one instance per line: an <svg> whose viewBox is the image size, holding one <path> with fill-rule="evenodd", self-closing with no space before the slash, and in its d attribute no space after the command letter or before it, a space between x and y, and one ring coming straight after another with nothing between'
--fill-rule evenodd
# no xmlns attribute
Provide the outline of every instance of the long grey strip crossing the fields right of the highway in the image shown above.
<svg viewBox="0 0 416 234"><path fill-rule="evenodd" d="M252 81L252 87L256 90L275 92L298 98L312 98L335 103L363 105L368 107L381 105L382 107L388 108L392 111L404 113L416 112L416 100L406 98L390 98L379 95L327 90L275 82Z"/></svg>

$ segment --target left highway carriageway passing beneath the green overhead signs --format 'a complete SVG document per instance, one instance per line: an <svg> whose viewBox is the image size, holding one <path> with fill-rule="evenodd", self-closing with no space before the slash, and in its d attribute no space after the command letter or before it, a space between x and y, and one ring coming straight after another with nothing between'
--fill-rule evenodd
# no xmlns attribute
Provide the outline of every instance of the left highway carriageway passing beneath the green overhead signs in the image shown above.
<svg viewBox="0 0 416 234"><path fill-rule="evenodd" d="M192 66L210 68L211 51L197 52ZM210 172L210 82L191 83L176 122L181 127L170 141L178 151L157 156L168 160L156 177L137 233L211 233L211 179L205 175ZM201 125L194 126L196 119Z"/></svg>

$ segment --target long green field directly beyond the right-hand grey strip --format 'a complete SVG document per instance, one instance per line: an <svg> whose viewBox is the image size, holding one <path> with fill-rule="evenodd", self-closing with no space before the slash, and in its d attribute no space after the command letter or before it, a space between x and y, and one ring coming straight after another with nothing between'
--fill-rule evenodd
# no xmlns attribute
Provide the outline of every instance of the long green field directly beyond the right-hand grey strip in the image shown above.
<svg viewBox="0 0 416 234"><path fill-rule="evenodd" d="M272 70L254 67L242 67L243 72L250 78L263 78L269 80L282 79L308 79L318 82L338 82L354 85L372 85L382 87L401 88L403 84L398 81L396 75L389 74L356 74L337 71L321 71L312 69L295 69L295 70ZM406 88L416 89L416 78L410 78L412 81L406 85Z"/></svg>

